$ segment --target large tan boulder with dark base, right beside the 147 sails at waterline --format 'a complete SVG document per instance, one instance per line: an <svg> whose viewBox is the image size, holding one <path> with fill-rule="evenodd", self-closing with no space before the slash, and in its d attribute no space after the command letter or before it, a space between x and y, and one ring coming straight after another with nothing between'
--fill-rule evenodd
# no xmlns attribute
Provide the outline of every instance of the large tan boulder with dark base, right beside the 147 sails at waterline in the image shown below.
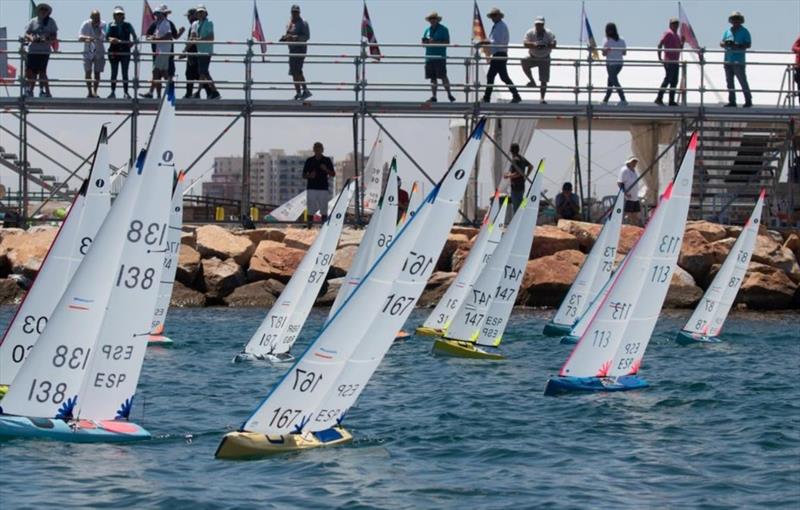
<svg viewBox="0 0 800 510"><path fill-rule="evenodd" d="M578 266L558 255L529 260L522 277L517 304L558 306L567 294Z"/></svg>

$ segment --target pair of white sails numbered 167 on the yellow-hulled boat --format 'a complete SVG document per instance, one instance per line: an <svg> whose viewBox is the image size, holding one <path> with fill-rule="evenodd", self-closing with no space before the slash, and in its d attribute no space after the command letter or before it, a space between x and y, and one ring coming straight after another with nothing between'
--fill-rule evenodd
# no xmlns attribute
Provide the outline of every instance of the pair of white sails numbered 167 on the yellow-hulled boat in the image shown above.
<svg viewBox="0 0 800 510"><path fill-rule="evenodd" d="M323 422L340 417L324 399L336 395L334 387L346 384L340 383L340 376L357 349L380 345L383 352L373 354L381 358L411 313L458 212L483 125L483 121L478 124L443 182L405 223L361 285L245 422L243 430L265 434L319 430ZM356 384L363 386L366 382Z"/></svg>

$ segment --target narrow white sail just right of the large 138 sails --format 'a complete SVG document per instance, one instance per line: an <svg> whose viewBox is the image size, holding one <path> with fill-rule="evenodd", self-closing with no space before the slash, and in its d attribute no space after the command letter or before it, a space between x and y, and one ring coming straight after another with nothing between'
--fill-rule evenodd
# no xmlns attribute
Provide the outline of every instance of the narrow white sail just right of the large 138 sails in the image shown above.
<svg viewBox="0 0 800 510"><path fill-rule="evenodd" d="M161 278L158 282L158 300L150 323L150 332L160 335L164 332L164 321L167 320L169 302L172 299L172 288L175 286L175 273L178 271L178 256L181 250L181 234L183 233L183 193L186 187L186 174L178 172L175 190L172 192L172 207L169 213L169 232L161 248L164 260L161 265Z"/></svg>

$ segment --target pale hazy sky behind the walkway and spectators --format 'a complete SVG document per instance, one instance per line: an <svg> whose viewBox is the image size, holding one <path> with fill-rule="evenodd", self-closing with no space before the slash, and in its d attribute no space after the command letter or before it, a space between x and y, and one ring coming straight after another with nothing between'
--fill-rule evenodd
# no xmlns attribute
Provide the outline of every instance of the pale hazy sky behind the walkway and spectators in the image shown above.
<svg viewBox="0 0 800 510"><path fill-rule="evenodd" d="M159 2L151 2L155 7ZM286 21L289 18L289 7L292 1L265 1L258 2L259 12L266 32L267 39L277 40L283 33ZM360 34L362 2L360 1L299 1L304 18L311 27L311 42L329 41L341 43L357 43ZM141 25L142 4L140 0L117 1L86 1L62 0L52 1L54 8L53 18L59 26L61 38L77 37L81 23L88 18L93 8L101 11L104 20L111 18L111 10L115 5L123 6L130 21L137 32ZM186 18L182 14L195 2L175 1L168 2L172 9L171 18L176 25L185 26ZM216 38L218 41L241 41L249 37L252 17L252 0L208 0L205 2L209 10L209 19L215 23ZM21 34L28 20L29 0L2 0L0 1L0 25L7 26L9 36ZM513 42L521 40L524 32L533 24L533 19L543 15L547 19L547 26L553 30L561 45L577 44L580 31L581 2L572 0L558 1L498 1L479 2L484 15L487 30L491 21L485 18L485 13L493 6L501 8L505 14L505 21L511 31ZM723 30L728 26L727 17L734 9L742 11L746 18L745 26L753 37L753 49L758 50L783 50L787 51L800 32L800 1L714 1L714 0L687 0L683 2L700 43L708 47L716 47ZM437 10L443 17L442 23L450 30L453 43L468 44L471 36L472 1L446 0L446 1L418 1L418 0L372 0L368 3L373 26L378 41L381 43L416 43L427 26L425 16L431 10ZM666 26L670 16L677 15L677 2L673 1L606 1L590 0L586 2L586 10L592 22L595 35L602 40L602 27L608 21L614 21L619 27L621 35L627 40L628 46L654 46L661 32ZM16 43L11 43L12 53L16 50ZM80 46L62 44L62 49L79 50ZM235 52L232 46L218 46L217 52ZM270 53L283 52L282 46L270 46ZM321 50L317 50L321 51ZM353 48L334 47L326 48L326 53L343 55L352 53ZM465 51L450 50L452 55L465 55ZM385 48L388 55L416 55L419 49L414 48ZM238 81L243 78L243 66L239 63L224 64L220 62L224 57L215 57L212 62L212 75L215 79ZM231 57L231 60L235 60ZM343 62L348 62L349 57L342 57ZM183 64L178 64L178 74L183 75ZM143 75L150 71L149 64L142 66ZM106 66L104 78L109 76L109 66ZM82 77L80 61L52 62L49 74L52 78L79 79ZM283 81L287 80L285 63L259 63L254 71L256 80ZM450 75L453 81L463 81L463 71L460 66L450 65ZM331 64L306 64L306 76L309 80L325 80L331 82L347 82L353 79L353 69L349 65ZM658 82L661 72L654 73L654 81ZM421 64L395 65L380 63L370 66L368 79L371 82L413 82L425 84ZM342 87L343 91L320 91L319 87L312 86L314 99L350 99L352 92L348 86ZM108 93L104 88L102 95ZM57 96L75 95L85 96L85 89L76 87L70 90L54 89ZM9 91L16 95L15 90ZM6 92L0 89L0 94ZM223 97L237 97L238 91L222 90ZM293 91L264 91L259 92L260 98L289 98ZM463 94L456 94L459 99ZM429 96L425 90L413 92L373 93L373 98L391 98L395 100L424 101ZM441 98L441 94L440 94ZM641 100L651 101L652 98L642 97ZM636 99L634 99L636 100ZM111 122L112 126L122 119L120 115L44 115L35 114L31 120L60 140L75 148L81 153L90 152L97 136L99 126L103 122ZM8 114L0 114L0 123L16 131L18 122ZM178 123L179 141L178 157L184 164L188 164L205 147L217 133L228 123L227 119L220 118L181 118ZM311 144L320 140L325 143L327 152L336 159L341 159L352 150L351 120L329 118L262 118L253 121L253 152L269 150L270 148L283 148L288 152L298 149L307 149ZM149 117L142 117L139 129L139 142L144 143L146 134L150 129ZM399 139L420 164L434 175L440 174L447 162L447 121L432 119L387 119L386 127ZM368 143L377 132L371 121L367 121ZM215 155L236 155L241 152L241 124L235 126L215 146L210 154L204 158L193 172L202 172L211 164ZM127 127L112 140L112 162L120 164L128 157L129 134ZM52 143L43 141L36 133L30 134L31 143L46 149L68 167L74 168L78 159L68 155L62 149L56 149ZM593 164L595 177L598 178L600 194L605 189L613 187L613 173L619 162L629 152L626 143L628 135L600 134L595 136L593 148ZM549 161L549 186L552 193L568 172L571 162L572 148L570 146L572 135L569 132L539 132L534 137L534 157L546 156ZM0 145L16 151L16 143L5 133L0 133ZM585 147L581 147L585 153ZM391 143L387 144L387 156L393 153ZM43 166L45 173L55 173L48 169L41 159L30 157L34 166ZM400 159L401 165L410 168L404 158ZM585 162L582 163L585 167ZM58 175L58 173L56 173ZM5 173L2 182L9 188L16 188L16 179Z"/></svg>

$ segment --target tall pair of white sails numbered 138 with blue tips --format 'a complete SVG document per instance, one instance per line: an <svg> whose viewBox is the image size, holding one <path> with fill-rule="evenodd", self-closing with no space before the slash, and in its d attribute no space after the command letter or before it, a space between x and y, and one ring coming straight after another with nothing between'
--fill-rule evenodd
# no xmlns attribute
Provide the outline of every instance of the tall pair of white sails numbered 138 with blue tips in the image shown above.
<svg viewBox="0 0 800 510"><path fill-rule="evenodd" d="M3 399L8 414L126 418L147 346L174 172L174 91L92 249ZM79 409L75 412L75 409Z"/></svg>

